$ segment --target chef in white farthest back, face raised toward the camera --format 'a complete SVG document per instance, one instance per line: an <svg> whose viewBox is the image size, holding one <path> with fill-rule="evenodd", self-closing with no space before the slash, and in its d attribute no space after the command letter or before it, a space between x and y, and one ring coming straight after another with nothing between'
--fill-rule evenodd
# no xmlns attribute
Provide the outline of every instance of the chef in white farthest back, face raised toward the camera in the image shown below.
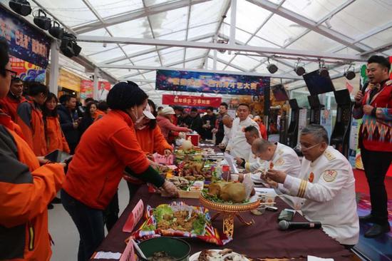
<svg viewBox="0 0 392 261"><path fill-rule="evenodd" d="M237 108L237 118L233 121L232 126L232 137L229 139L229 143L226 147L226 152L232 155L234 158L249 158L251 153L250 145L247 143L245 138L244 129L247 126L254 126L259 130L259 125L249 118L250 109L246 103L240 103Z"/></svg>

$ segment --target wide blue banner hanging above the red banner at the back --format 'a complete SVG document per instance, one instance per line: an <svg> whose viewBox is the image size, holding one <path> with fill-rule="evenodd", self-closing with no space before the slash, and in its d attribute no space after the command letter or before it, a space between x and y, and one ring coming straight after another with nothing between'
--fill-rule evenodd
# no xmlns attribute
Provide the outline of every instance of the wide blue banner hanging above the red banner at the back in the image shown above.
<svg viewBox="0 0 392 261"><path fill-rule="evenodd" d="M269 87L269 77L197 71L157 70L155 88L164 91L226 93L258 96Z"/></svg>

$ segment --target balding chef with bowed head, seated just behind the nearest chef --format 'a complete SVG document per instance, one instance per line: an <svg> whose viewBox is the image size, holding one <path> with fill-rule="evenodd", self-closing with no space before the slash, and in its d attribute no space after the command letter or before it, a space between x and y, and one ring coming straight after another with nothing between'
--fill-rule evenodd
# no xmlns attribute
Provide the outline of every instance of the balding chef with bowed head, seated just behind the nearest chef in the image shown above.
<svg viewBox="0 0 392 261"><path fill-rule="evenodd" d="M301 163L295 151L287 145L282 143L272 143L269 140L261 138L254 140L252 143L252 152L257 155L257 158L263 160L261 168L269 170L281 170L291 175L294 178L299 178L301 173ZM265 180L278 195L289 194L289 190L284 188L283 184L279 184L273 180ZM301 200L292 197L291 195L284 195L284 200L294 209L301 208Z"/></svg>

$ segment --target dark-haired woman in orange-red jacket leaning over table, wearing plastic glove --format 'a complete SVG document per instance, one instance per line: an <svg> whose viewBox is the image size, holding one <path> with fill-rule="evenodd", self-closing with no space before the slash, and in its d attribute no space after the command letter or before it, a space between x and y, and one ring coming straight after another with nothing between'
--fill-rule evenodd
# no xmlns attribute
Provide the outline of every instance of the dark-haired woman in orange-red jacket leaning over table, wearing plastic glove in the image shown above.
<svg viewBox="0 0 392 261"><path fill-rule="evenodd" d="M107 98L111 111L83 134L68 166L61 203L78 228L78 261L88 260L105 237L103 210L115 195L124 169L169 195L178 195L175 185L150 167L136 139L133 124L143 116L147 98L136 83L115 84Z"/></svg>

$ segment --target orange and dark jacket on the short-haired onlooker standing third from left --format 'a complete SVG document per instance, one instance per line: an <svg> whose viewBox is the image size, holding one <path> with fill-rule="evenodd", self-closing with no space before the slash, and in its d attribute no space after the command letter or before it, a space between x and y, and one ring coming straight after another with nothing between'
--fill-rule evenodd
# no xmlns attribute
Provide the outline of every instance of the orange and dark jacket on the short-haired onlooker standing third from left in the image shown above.
<svg viewBox="0 0 392 261"><path fill-rule="evenodd" d="M34 103L20 103L16 123L21 127L26 142L37 156L46 155L45 126L41 110Z"/></svg>

